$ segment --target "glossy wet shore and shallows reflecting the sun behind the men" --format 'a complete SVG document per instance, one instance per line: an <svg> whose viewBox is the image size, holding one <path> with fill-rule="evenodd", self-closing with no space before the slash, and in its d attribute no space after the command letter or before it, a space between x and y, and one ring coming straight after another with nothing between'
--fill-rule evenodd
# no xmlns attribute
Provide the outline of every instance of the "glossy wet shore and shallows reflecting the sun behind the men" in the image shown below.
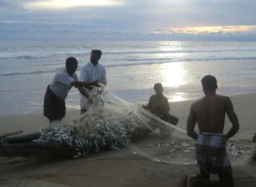
<svg viewBox="0 0 256 187"><path fill-rule="evenodd" d="M109 58L110 61L111 58ZM2 98L0 101L2 106L0 108L1 115L19 114L20 112L40 113L43 110L46 87L52 81L55 70L63 68L63 63L61 62L58 65L53 64L54 66L50 66L50 62L48 62L49 64L46 63L49 66L45 65L45 63L39 60L35 65L39 67L44 65L47 70L53 72L0 76L0 82L2 83L0 90L0 97ZM17 65L20 64L22 62ZM102 59L102 64L106 65L104 59ZM166 61L166 63L151 65L111 67L106 68L106 70L108 72L109 90L123 100L142 103L147 102L150 95L154 94L153 84L155 82L163 84L164 95L169 101L202 97L200 79L204 74L209 73L218 78L218 93L220 94L255 93L256 84L253 71L255 66L253 60L232 60L231 62L211 60L209 62L198 61L193 63ZM197 71L198 67L200 67L200 73ZM20 70L27 72L22 67ZM35 70L33 69L33 71ZM151 72L150 76L148 72ZM77 74L79 74L79 71L77 71ZM17 82L20 82L20 84L17 85ZM79 108L80 97L78 90L70 90L66 101L67 108Z"/></svg>

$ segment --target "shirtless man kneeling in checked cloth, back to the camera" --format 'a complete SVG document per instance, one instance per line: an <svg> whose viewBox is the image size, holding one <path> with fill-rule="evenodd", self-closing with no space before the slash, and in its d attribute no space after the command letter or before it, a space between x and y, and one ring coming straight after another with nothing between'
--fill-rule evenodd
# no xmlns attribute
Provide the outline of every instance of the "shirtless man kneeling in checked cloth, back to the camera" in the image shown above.
<svg viewBox="0 0 256 187"><path fill-rule="evenodd" d="M192 103L187 119L187 135L196 143L197 163L200 174L184 177L184 186L234 186L231 163L226 153L226 142L239 130L239 122L229 97L217 95L217 80L207 75L202 79L205 97ZM225 114L232 123L231 129L223 134ZM199 133L194 131L198 124ZM210 174L217 173L219 181L210 181ZM181 181L182 183L182 181Z"/></svg>

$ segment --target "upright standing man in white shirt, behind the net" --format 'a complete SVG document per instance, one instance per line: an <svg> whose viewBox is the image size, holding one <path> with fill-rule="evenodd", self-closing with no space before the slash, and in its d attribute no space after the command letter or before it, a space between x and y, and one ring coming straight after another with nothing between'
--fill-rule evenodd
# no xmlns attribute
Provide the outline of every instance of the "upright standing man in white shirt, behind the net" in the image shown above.
<svg viewBox="0 0 256 187"><path fill-rule="evenodd" d="M79 80L84 82L93 82L98 81L101 84L106 85L106 70L105 68L99 64L99 60L101 58L101 50L92 50L90 56L90 62L85 63L81 70ZM87 86L86 91L90 92L92 87ZM85 113L88 108L88 99L83 95L80 95L80 108L81 114Z"/></svg>

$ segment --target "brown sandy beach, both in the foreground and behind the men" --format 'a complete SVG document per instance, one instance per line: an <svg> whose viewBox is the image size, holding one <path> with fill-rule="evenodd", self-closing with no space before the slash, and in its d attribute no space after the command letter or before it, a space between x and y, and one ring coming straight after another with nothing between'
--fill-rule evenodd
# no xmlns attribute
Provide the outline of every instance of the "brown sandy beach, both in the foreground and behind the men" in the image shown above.
<svg viewBox="0 0 256 187"><path fill-rule="evenodd" d="M239 140L239 146L250 145L254 151L255 143L251 142L256 131L256 94L236 95L231 97L234 109L239 117L241 129L233 138ZM170 103L171 113L179 117L178 127L186 128L187 115L193 100ZM68 110L64 122L70 123L79 115L79 110ZM226 123L226 130L231 127ZM0 116L0 132L24 130L24 133L35 132L48 125L43 114L19 114ZM93 154L87 158L67 160L40 160L22 157L0 157L1 186L176 186L182 175L193 175L198 172L194 153L187 153L190 161L186 163L186 155L174 153L173 162L160 164L153 162L147 156L134 154L132 151L142 150L147 144L155 145L161 142L160 137L148 135L143 140L132 143L129 148L119 151L105 151ZM189 140L193 143L192 140ZM143 149L155 151L154 155L167 156L157 148ZM256 163L250 161L250 154L245 154L240 160L231 159L235 178L235 186L255 186ZM172 155L168 155L170 161ZM174 162L175 161L175 162ZM178 162L180 161L180 163ZM239 162L238 162L239 161ZM213 178L217 178L213 176Z"/></svg>

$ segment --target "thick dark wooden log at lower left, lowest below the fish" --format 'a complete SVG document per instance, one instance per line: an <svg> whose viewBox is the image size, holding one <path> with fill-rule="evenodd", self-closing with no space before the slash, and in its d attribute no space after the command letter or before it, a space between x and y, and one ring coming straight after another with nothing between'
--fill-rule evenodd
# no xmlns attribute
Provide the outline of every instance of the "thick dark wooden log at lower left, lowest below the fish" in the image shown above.
<svg viewBox="0 0 256 187"><path fill-rule="evenodd" d="M12 143L0 145L0 156L9 157L72 157L75 149L57 142Z"/></svg>

